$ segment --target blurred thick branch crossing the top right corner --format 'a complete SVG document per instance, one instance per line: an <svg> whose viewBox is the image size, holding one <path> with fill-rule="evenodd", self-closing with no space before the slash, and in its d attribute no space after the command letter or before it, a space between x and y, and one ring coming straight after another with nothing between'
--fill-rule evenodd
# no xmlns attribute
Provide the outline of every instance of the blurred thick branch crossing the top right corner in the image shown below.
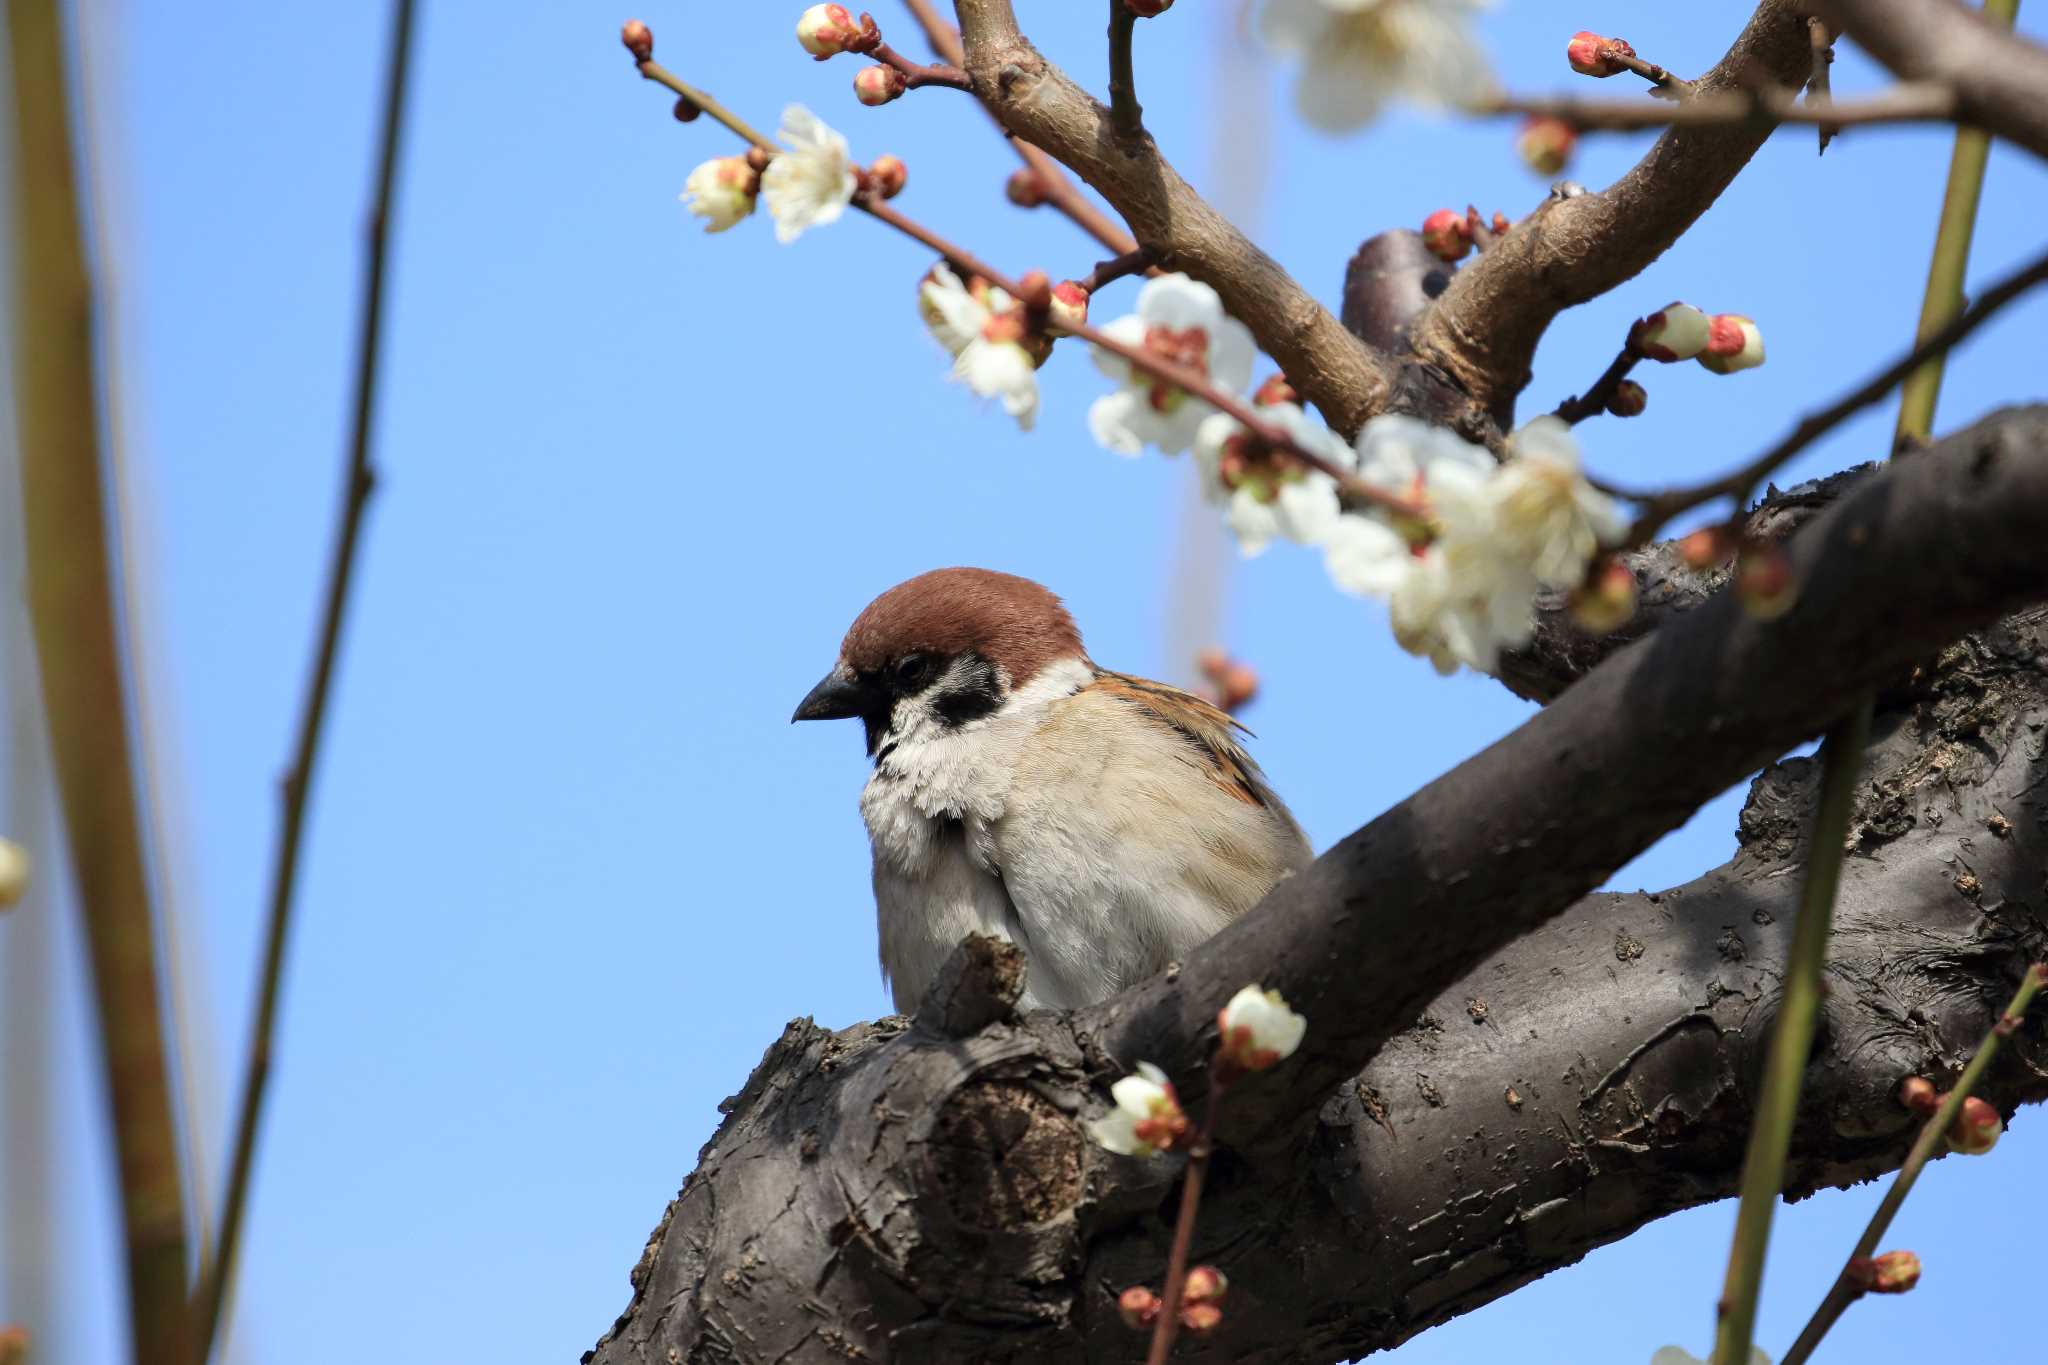
<svg viewBox="0 0 2048 1365"><path fill-rule="evenodd" d="M1950 86L1962 123L2048 158L2048 47L1952 0L1817 0L1812 8L1901 80Z"/></svg>

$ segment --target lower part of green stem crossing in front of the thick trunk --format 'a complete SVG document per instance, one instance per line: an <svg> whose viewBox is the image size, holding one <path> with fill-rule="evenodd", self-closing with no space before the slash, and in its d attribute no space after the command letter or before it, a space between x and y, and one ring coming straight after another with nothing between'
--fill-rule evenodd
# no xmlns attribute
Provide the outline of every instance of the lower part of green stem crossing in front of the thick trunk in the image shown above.
<svg viewBox="0 0 2048 1365"><path fill-rule="evenodd" d="M1778 997L1769 1056L1763 1064L1763 1095L1749 1126L1743 1156L1741 1203L1729 1246L1729 1275L1720 1291L1720 1322L1714 1336L1714 1365L1747 1365L1749 1338L1757 1324L1757 1293L1763 1289L1763 1252L1772 1240L1772 1216L1786 1185L1786 1152L1798 1119L1798 1091L1821 1021L1821 972L1827 966L1829 925L1841 857L1855 810L1855 778L1870 741L1870 706L1858 706L1829 731L1821 745L1821 802L1806 841L1806 880L1800 886L1798 921L1792 925L1792 958Z"/></svg>

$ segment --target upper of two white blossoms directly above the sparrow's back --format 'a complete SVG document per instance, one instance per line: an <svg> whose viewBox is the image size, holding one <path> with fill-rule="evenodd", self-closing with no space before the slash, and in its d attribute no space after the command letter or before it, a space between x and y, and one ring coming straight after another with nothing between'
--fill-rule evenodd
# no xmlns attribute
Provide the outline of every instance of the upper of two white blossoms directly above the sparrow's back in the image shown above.
<svg viewBox="0 0 2048 1365"><path fill-rule="evenodd" d="M1186 274L1155 276L1139 289L1137 309L1104 332L1184 364L1227 393L1243 393L1251 383L1251 332L1223 311L1223 301L1208 284ZM1094 401L1087 430L1116 454L1135 456L1145 446L1180 454L1214 411L1206 401L1153 379L1116 352L1098 346L1094 356L1096 366L1118 381L1118 389Z"/></svg>

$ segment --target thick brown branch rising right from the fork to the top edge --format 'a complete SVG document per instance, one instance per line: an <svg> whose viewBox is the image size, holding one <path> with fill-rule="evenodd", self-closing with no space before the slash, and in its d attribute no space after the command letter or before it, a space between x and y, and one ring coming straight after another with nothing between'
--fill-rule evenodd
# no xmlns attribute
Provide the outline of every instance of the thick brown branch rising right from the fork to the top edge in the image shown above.
<svg viewBox="0 0 2048 1365"><path fill-rule="evenodd" d="M1755 84L1798 88L1812 65L1792 0L1765 0L1700 98ZM1415 354L1442 366L1503 428L1550 319L1632 278L1698 221L1749 164L1772 121L1675 127L1595 194L1554 196L1458 270L1413 327Z"/></svg>

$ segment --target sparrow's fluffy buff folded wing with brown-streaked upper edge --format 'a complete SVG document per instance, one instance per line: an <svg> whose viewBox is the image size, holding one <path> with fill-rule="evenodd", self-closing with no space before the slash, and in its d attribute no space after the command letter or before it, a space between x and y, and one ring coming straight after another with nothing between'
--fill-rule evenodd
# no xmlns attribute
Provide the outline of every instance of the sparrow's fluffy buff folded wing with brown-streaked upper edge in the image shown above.
<svg viewBox="0 0 2048 1365"><path fill-rule="evenodd" d="M1124 673L1047 706L993 833L1032 984L1057 1005L1186 956L1311 857L1225 712Z"/></svg>

